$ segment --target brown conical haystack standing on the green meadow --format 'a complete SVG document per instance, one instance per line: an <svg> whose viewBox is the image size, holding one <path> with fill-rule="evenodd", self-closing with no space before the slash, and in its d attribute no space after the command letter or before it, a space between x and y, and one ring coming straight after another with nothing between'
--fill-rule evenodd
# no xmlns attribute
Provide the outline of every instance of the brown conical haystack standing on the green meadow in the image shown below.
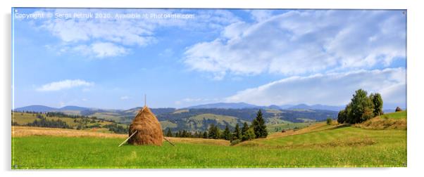
<svg viewBox="0 0 424 177"><path fill-rule="evenodd" d="M161 124L149 107L144 106L132 120L128 136L135 131L137 133L128 140L129 144L162 145L163 133Z"/></svg>

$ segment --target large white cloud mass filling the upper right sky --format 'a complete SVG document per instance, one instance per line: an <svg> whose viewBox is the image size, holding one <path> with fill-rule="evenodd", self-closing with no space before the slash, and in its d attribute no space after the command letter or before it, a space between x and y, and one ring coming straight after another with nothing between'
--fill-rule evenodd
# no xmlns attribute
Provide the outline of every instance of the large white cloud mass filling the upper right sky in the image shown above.
<svg viewBox="0 0 424 177"><path fill-rule="evenodd" d="M405 16L400 11L289 11L253 13L220 37L190 46L192 70L225 74L313 74L389 65L405 57Z"/></svg>

